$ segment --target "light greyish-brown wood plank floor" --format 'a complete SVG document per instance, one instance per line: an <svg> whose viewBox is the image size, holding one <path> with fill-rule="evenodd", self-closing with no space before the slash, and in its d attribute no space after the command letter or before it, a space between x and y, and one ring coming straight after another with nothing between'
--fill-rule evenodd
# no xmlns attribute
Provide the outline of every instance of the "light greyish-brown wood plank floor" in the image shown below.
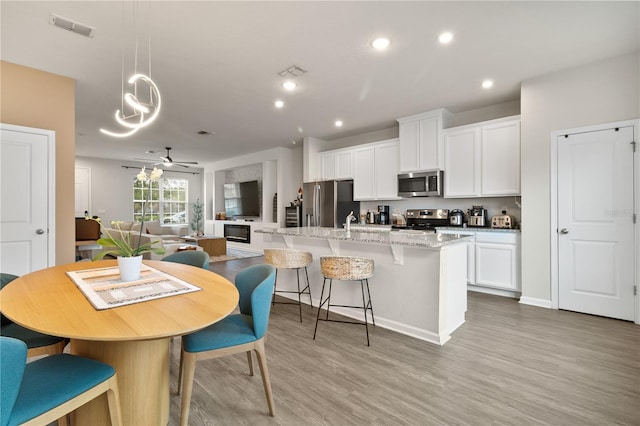
<svg viewBox="0 0 640 426"><path fill-rule="evenodd" d="M212 264L233 279L263 258ZM320 283L312 283L312 285ZM375 278L371 280L376 283ZM375 300L374 310L375 310ZM190 425L640 425L640 327L469 293L467 321L443 347L382 328L271 311L267 359L276 405L246 357L198 363ZM171 365L171 417L180 339ZM255 362L254 362L255 364Z"/></svg>

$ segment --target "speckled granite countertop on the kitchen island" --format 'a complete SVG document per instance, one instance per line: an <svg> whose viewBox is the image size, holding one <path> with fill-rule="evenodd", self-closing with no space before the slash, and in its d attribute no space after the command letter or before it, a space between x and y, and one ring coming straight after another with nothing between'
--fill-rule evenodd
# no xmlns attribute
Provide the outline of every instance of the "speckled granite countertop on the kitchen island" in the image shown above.
<svg viewBox="0 0 640 426"><path fill-rule="evenodd" d="M325 240L352 241L357 243L372 243L397 246L411 246L423 248L439 248L448 244L471 240L473 237L455 234L426 233L422 231L394 231L381 232L361 231L324 227L302 228L263 228L256 230L262 234L281 235L303 238L320 238Z"/></svg>

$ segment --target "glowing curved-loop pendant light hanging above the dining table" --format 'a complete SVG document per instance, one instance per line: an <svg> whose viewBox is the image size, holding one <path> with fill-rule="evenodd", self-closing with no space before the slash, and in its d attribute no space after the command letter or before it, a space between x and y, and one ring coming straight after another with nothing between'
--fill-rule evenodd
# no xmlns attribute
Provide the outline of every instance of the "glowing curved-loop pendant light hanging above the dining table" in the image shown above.
<svg viewBox="0 0 640 426"><path fill-rule="evenodd" d="M125 27L125 3L122 4L122 26L123 33ZM150 2L147 2L149 4ZM149 7L147 8L147 12ZM133 32L134 32L134 54L133 54L133 75L127 79L127 87L125 87L125 39L123 34L122 42L122 70L121 70L121 85L122 85L122 101L120 109L115 112L116 122L125 128L122 132L113 132L111 130L100 129L100 132L105 135L125 138L131 136L143 127L151 124L160 113L160 106L162 104L160 98L160 91L158 86L151 79L151 31L150 22L151 14L148 13L147 17L147 60L148 69L147 74L143 74L138 71L138 2L133 3ZM129 90L129 91L127 91ZM147 93L148 92L148 93Z"/></svg>

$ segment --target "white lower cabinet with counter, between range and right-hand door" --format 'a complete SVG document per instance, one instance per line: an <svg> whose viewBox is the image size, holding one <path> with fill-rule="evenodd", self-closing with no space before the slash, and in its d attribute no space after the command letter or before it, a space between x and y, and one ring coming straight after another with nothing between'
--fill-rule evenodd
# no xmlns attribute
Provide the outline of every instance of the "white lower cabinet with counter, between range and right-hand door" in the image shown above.
<svg viewBox="0 0 640 426"><path fill-rule="evenodd" d="M467 242L468 284L521 291L519 233L477 231L469 228L438 232L474 236L474 240Z"/></svg>

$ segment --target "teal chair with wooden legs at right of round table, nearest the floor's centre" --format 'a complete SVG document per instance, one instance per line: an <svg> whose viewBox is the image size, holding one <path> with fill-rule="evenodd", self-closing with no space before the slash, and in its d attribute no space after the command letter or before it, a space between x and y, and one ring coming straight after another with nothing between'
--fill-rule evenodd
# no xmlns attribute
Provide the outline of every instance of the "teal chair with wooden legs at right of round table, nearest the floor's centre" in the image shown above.
<svg viewBox="0 0 640 426"><path fill-rule="evenodd" d="M276 270L267 264L253 265L238 272L235 285L240 293L240 313L182 337L178 375L178 393L182 389L181 425L186 426L189 421L196 361L246 352L249 374L253 376L251 351L255 351L258 358L269 414L275 415L264 349L275 280Z"/></svg>

